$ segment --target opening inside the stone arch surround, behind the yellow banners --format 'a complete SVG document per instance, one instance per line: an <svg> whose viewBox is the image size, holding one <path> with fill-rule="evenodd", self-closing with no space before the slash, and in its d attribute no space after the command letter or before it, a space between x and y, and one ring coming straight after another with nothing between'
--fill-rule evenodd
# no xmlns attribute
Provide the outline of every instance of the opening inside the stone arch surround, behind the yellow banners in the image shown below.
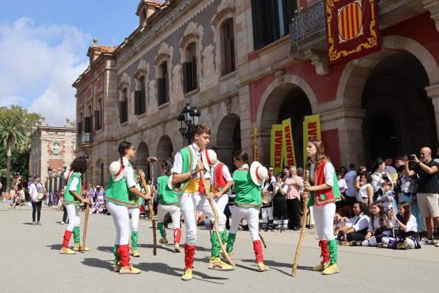
<svg viewBox="0 0 439 293"><path fill-rule="evenodd" d="M297 166L303 165L303 118L312 114L311 103L305 91L295 84L283 84L270 93L263 106L261 116L261 141L263 158L261 163L270 163L270 130L272 124L280 124L282 120L291 118L294 151Z"/></svg>

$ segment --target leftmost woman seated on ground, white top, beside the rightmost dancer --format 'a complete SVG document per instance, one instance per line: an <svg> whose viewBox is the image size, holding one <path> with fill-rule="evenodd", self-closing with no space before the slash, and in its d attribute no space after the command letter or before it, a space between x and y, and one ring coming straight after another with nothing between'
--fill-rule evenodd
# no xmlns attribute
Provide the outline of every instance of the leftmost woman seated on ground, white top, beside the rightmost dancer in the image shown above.
<svg viewBox="0 0 439 293"><path fill-rule="evenodd" d="M364 236L369 229L369 210L367 206L362 202L355 202L353 205L353 213L355 216L349 219L344 227L341 227L338 239L339 241L363 241ZM343 245L349 245L348 243L342 243Z"/></svg>

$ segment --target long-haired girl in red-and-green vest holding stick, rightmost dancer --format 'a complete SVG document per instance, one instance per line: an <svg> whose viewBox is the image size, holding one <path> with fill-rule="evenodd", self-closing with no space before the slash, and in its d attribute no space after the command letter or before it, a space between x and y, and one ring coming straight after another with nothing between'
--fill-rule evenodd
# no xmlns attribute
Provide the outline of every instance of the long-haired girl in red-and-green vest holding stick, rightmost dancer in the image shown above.
<svg viewBox="0 0 439 293"><path fill-rule="evenodd" d="M307 144L309 163L309 182L304 182L305 193L309 196L309 206L314 206L314 222L318 235L318 246L323 260L313 271L322 271L323 275L338 273L337 241L334 236L335 202L340 200L340 190L334 166L325 156L320 140L309 140Z"/></svg>

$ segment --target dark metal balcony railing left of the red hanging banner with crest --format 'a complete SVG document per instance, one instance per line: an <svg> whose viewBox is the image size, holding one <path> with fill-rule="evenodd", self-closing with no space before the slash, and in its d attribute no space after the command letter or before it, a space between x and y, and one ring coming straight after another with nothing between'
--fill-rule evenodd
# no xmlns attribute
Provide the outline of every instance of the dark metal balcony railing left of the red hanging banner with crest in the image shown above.
<svg viewBox="0 0 439 293"><path fill-rule="evenodd" d="M311 38L325 28L325 1L319 1L300 11L291 20L291 48L297 47L301 40Z"/></svg>

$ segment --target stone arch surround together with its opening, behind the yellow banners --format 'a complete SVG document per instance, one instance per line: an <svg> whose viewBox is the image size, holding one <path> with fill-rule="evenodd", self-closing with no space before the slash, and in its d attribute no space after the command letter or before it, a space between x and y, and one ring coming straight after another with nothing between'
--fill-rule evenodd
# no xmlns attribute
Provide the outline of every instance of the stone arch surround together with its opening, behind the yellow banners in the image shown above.
<svg viewBox="0 0 439 293"><path fill-rule="evenodd" d="M288 118L287 113L281 112L281 107L291 107L291 103L298 103L294 107L292 119L293 140L296 159L300 159L302 148L302 117L318 112L316 94L309 84L297 75L286 74L277 79L265 89L256 116L256 127L259 130L258 150L261 163L270 162L270 129L272 124L280 123L279 119ZM297 126L297 127L296 127ZM294 129L297 129L295 131ZM297 136L297 137L295 137ZM300 149L299 149L300 148ZM301 160L301 159L300 159ZM300 161L298 161L300 163Z"/></svg>

